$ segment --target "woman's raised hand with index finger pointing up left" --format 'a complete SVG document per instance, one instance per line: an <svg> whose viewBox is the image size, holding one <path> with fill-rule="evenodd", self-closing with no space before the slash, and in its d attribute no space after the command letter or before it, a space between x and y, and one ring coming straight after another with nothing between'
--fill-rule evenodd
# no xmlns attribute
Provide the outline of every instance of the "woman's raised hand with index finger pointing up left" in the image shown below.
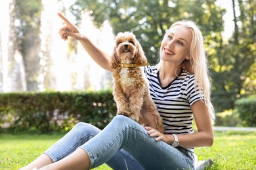
<svg viewBox="0 0 256 170"><path fill-rule="evenodd" d="M72 24L68 18L60 14L60 12L58 12L58 16L60 16L60 18L65 22L65 25L58 31L62 39L67 40L68 36L76 40L81 40L83 38L83 36L79 33L79 29Z"/></svg>

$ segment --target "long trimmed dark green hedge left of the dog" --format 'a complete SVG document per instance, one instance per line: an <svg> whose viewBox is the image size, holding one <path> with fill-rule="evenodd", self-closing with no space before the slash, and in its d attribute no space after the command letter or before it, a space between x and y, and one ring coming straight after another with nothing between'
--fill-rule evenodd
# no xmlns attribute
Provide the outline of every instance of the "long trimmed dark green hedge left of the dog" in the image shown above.
<svg viewBox="0 0 256 170"><path fill-rule="evenodd" d="M77 122L102 129L115 115L110 91L0 93L0 131L68 131Z"/></svg>

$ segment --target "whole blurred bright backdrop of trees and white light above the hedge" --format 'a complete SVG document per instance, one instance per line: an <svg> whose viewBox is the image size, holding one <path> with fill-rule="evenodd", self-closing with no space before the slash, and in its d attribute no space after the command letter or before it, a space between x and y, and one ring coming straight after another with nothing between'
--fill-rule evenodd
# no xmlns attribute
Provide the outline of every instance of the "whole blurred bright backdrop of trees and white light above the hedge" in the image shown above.
<svg viewBox="0 0 256 170"><path fill-rule="evenodd" d="M109 54L119 31L133 31L148 61L158 61L161 39L173 22L200 25L216 112L255 98L256 1L249 0L5 0L0 1L0 92L96 91L112 75L58 29L62 12ZM229 112L229 111L226 111Z"/></svg>

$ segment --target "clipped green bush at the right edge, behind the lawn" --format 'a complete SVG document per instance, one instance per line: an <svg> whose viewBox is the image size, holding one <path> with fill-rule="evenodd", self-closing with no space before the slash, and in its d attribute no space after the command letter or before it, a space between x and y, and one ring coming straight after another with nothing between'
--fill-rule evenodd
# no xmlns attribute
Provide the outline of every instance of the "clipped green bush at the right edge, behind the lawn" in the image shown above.
<svg viewBox="0 0 256 170"><path fill-rule="evenodd" d="M235 109L244 126L256 127L256 97L236 100Z"/></svg>

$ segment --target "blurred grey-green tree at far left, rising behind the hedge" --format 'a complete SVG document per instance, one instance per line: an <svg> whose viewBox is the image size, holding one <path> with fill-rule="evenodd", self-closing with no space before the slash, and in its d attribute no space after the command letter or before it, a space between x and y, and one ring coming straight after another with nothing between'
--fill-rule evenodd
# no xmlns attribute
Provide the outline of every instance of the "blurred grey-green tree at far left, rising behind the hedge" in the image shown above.
<svg viewBox="0 0 256 170"><path fill-rule="evenodd" d="M39 74L39 47L40 47L40 0L15 0L14 34L12 40L24 60L27 90L37 90L37 76Z"/></svg>

